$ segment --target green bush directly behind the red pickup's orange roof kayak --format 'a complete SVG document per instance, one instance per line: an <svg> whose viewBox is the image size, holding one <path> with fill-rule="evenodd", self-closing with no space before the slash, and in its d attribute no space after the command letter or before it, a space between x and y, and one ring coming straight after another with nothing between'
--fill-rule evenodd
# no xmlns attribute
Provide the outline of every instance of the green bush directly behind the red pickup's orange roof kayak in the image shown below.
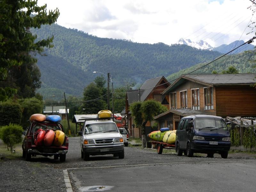
<svg viewBox="0 0 256 192"><path fill-rule="evenodd" d="M30 124L28 120L31 115L43 112L43 101L33 97L27 99L20 99L19 103L22 108L21 125L25 129Z"/></svg>

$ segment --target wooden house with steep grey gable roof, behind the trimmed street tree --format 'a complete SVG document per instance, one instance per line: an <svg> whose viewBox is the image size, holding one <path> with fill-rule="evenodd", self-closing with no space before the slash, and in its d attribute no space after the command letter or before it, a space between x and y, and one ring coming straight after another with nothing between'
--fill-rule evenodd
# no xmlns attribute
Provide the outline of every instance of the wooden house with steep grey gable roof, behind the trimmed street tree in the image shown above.
<svg viewBox="0 0 256 192"><path fill-rule="evenodd" d="M170 83L164 76L161 76L146 80L140 89L130 89L126 91L125 113L122 115L127 115L127 126L131 137L141 138L141 130L133 123L134 117L129 110L129 106L133 102L154 99L169 108L169 95L162 94L162 92L169 86ZM150 126L152 127L150 122L148 122L146 124L146 133L151 132L151 130L149 130Z"/></svg>

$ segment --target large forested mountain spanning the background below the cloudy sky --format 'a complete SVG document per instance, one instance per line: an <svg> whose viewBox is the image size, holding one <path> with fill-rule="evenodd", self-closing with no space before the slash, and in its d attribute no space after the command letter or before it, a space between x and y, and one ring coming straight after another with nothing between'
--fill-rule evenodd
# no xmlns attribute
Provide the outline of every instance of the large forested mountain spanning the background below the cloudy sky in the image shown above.
<svg viewBox="0 0 256 192"><path fill-rule="evenodd" d="M143 83L156 76L168 76L220 56L219 52L198 50L187 45L141 44L120 39L99 38L57 24L31 29L37 39L54 36L54 48L38 56L41 93L48 88L82 95L83 88L99 71L113 77L114 87L126 82ZM56 94L56 93L54 93Z"/></svg>

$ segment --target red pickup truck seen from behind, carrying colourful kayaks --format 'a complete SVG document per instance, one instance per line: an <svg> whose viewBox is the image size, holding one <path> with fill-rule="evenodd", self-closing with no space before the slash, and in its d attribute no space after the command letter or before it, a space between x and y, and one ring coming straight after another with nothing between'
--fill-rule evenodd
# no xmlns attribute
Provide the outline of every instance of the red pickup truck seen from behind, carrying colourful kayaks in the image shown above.
<svg viewBox="0 0 256 192"><path fill-rule="evenodd" d="M22 143L22 157L29 161L31 156L42 155L42 156L54 156L54 159L58 159L60 157L60 162L64 162L66 160L66 154L68 152L68 137L65 135L64 142L61 146L49 146L46 147L44 145L37 146L35 144L35 137L38 133L37 130L48 130L52 129L62 131L62 125L60 123L52 123L48 121L44 122L32 122L28 128L27 133L25 134L25 138Z"/></svg>

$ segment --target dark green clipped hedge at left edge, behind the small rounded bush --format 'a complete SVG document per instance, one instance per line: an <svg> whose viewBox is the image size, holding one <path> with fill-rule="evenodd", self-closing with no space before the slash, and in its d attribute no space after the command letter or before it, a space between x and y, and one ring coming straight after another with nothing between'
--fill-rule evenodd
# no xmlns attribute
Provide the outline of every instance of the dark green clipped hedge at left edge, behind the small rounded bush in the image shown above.
<svg viewBox="0 0 256 192"><path fill-rule="evenodd" d="M20 124L22 117L20 104L11 100L0 102L0 117L0 126L10 123Z"/></svg>

